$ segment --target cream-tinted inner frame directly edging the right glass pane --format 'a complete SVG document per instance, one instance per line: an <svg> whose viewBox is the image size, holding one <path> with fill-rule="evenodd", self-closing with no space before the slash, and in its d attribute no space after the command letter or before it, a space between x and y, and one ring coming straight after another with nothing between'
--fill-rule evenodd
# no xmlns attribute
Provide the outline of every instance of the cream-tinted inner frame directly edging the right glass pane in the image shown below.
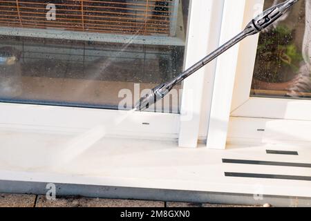
<svg viewBox="0 0 311 221"><path fill-rule="evenodd" d="M258 8L262 9L263 3L263 0L249 1L245 8L245 19L249 20ZM241 45L240 54L238 55L238 69L236 70L234 99L232 101L232 116L311 120L310 100L249 97L257 45L258 35L244 41ZM261 109L261 111L255 111L258 109Z"/></svg>

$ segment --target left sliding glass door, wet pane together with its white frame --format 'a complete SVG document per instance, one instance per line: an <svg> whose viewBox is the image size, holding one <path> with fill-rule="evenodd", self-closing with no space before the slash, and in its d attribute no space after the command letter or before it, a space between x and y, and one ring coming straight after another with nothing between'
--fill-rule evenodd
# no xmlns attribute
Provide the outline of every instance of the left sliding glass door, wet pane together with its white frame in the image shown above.
<svg viewBox="0 0 311 221"><path fill-rule="evenodd" d="M1 1L0 124L81 131L114 121L113 135L185 137L180 146L196 146L202 73L147 112L119 119L216 47L207 46L222 10L216 0Z"/></svg>

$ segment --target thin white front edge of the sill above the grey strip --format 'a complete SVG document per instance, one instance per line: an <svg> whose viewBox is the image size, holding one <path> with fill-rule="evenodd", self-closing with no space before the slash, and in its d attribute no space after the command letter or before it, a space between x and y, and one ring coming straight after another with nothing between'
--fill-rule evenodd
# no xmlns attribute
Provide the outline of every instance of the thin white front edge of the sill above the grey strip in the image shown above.
<svg viewBox="0 0 311 221"><path fill-rule="evenodd" d="M91 186L117 186L142 189L168 189L177 191L202 191L213 193L237 193L254 195L258 186L249 184L222 184L216 182L191 182L176 180L148 180L140 178L87 177L55 173L0 171L0 180L19 182L44 182L61 184L82 184ZM286 194L284 194L286 193ZM263 195L311 198L310 187L265 185Z"/></svg>

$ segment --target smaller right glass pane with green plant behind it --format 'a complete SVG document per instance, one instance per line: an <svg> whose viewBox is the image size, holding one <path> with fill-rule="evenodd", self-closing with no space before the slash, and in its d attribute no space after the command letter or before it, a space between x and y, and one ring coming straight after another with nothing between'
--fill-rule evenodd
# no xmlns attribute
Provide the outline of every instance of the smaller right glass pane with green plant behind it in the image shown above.
<svg viewBox="0 0 311 221"><path fill-rule="evenodd" d="M265 8L281 2L266 0ZM311 98L311 1L299 1L258 42L252 96Z"/></svg>

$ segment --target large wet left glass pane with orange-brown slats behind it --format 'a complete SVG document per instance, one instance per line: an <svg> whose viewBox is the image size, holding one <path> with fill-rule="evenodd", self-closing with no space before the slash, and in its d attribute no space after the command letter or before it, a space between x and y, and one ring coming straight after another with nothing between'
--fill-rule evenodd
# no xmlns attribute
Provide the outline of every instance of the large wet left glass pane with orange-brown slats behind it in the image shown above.
<svg viewBox="0 0 311 221"><path fill-rule="evenodd" d="M189 0L50 2L0 1L0 102L129 109L182 70Z"/></svg>

